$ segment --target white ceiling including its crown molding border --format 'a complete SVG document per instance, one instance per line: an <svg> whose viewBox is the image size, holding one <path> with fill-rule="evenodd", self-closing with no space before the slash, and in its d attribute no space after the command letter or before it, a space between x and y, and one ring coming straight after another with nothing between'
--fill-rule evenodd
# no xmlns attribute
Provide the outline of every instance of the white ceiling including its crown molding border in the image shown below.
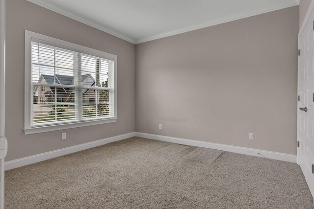
<svg viewBox="0 0 314 209"><path fill-rule="evenodd" d="M28 1L134 44L299 4L299 0Z"/></svg>

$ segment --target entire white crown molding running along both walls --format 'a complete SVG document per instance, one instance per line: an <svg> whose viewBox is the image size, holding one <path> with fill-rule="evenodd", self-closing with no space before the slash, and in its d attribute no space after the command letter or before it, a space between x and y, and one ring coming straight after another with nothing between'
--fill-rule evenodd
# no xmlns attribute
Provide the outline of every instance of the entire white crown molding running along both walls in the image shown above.
<svg viewBox="0 0 314 209"><path fill-rule="evenodd" d="M122 33L116 32L114 30L108 29L108 28L106 28L103 25L94 23L93 21L91 21L89 19L86 19L86 18L81 17L79 15L73 14L73 13L71 13L69 11L66 11L66 10L64 10L64 9L54 5L54 4L48 3L46 1L42 1L42 0L27 0L27 1L30 1L32 3L35 3L35 4L39 5L39 6L45 7L47 9L49 9L49 10L52 10L52 11L54 11L56 13L64 15L64 16L66 16L68 18L74 19L74 20L76 20L78 22L81 22L81 23L87 24L89 26L92 26L94 28L97 28L97 29L99 29L101 31L104 31L106 33L109 33L109 34L111 34L113 36L116 36L116 37L121 38L123 40L126 40L128 42L131 42L132 44L140 44L140 43L143 43L143 42L153 41L153 40L156 40L156 39L165 38L165 37L168 37L168 36L173 36L173 35L177 35L177 34L180 34L180 33L185 33L185 32L192 31L192 30L197 30L197 29L201 29L201 28L205 28L205 27L209 27L209 26L213 26L213 25L217 25L217 24L221 24L221 23L227 23L227 22L231 22L231 21L235 21L235 20L239 20L239 19L243 19L243 18L247 18L247 17L252 17L252 16L255 16L255 15L260 15L260 14L263 14L263 13L272 12L272 11L279 10L279 9L284 9L284 8L288 8L288 7L291 7L291 6L296 6L300 2L300 0L292 0L292 1L291 0L287 0L286 2L279 3L279 4L274 4L274 5L271 5L271 6L268 6L268 7L263 7L263 8L256 9L256 10L251 10L251 11L247 11L247 12L243 12L243 13L238 13L238 14L235 14L235 15L229 15L229 16L217 18L217 19L214 19L214 20L211 20L211 21L207 21L207 22L204 22L204 23L197 23L197 24L189 25L187 27L179 28L177 30L169 31L169 32L166 32L166 33L161 33L161 34L158 34L158 35L145 37L143 39L134 40L131 37L125 35L125 34L122 34Z"/></svg>

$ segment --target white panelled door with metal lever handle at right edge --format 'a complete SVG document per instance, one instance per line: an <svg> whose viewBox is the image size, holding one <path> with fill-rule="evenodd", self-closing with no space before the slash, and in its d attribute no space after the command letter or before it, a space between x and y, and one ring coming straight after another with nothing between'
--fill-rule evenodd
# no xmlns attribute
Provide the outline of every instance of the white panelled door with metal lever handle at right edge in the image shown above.
<svg viewBox="0 0 314 209"><path fill-rule="evenodd" d="M299 49L299 165L314 196L314 12L299 34Z"/></svg>

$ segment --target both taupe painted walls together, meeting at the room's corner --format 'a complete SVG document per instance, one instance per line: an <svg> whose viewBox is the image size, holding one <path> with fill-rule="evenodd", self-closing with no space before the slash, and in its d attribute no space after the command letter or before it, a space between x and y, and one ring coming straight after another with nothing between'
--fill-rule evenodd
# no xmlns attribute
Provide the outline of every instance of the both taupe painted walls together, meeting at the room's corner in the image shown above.
<svg viewBox="0 0 314 209"><path fill-rule="evenodd" d="M295 154L298 24L295 6L139 44L135 54L129 42L7 0L6 161L134 130ZM118 122L24 135L25 29L116 54Z"/></svg>

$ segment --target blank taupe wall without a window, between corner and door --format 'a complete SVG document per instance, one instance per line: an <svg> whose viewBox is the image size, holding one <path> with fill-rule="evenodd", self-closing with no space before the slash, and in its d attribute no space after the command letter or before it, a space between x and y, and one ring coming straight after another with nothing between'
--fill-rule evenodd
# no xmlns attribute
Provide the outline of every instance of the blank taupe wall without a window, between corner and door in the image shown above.
<svg viewBox="0 0 314 209"><path fill-rule="evenodd" d="M298 29L294 6L136 45L135 130L296 154Z"/></svg>

